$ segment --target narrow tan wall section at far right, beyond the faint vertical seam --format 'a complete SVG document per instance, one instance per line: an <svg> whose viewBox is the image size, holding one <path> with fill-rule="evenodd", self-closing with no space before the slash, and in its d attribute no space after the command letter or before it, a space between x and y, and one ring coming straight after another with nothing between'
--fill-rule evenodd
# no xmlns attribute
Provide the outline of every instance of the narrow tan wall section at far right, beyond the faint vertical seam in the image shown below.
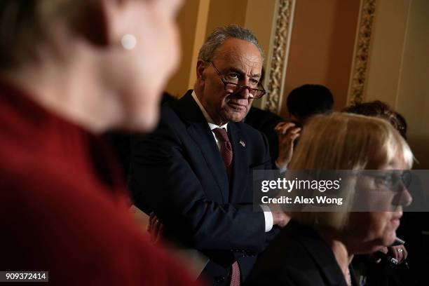
<svg viewBox="0 0 429 286"><path fill-rule="evenodd" d="M400 74L396 108L408 123L411 149L429 169L429 1L412 0Z"/></svg>

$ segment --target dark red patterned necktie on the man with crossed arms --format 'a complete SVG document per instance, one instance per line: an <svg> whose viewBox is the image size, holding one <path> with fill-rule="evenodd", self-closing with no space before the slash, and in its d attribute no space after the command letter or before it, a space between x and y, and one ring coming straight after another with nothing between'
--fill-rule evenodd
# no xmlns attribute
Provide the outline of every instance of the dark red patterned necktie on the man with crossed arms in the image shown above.
<svg viewBox="0 0 429 286"><path fill-rule="evenodd" d="M226 174L228 174L228 179L231 180L232 175L232 158L233 152L231 147L231 142L229 142L228 133L224 128L215 128L213 129L214 134L216 134L217 139L220 144L220 152L222 156L222 161L224 161ZM230 286L240 286L240 267L238 266L238 262L235 261L232 268L231 282Z"/></svg>

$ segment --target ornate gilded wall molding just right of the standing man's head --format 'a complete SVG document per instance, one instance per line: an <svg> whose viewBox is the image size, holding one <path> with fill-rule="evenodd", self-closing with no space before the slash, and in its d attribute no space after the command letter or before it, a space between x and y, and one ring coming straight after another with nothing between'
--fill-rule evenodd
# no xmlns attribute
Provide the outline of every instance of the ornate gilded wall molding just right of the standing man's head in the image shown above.
<svg viewBox="0 0 429 286"><path fill-rule="evenodd" d="M294 12L294 0L279 0L275 21L273 44L271 45L271 63L266 84L266 102L264 109L275 114L280 111L287 55L289 53L290 32Z"/></svg>

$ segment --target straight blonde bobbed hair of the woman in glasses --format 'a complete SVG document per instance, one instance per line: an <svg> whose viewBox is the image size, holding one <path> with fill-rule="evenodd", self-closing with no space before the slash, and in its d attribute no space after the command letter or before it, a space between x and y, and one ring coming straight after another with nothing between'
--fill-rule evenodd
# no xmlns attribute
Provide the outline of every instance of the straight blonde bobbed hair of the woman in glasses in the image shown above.
<svg viewBox="0 0 429 286"><path fill-rule="evenodd" d="M414 157L402 136L387 121L369 116L334 113L315 116L305 125L290 170L376 170L402 156L406 168ZM354 186L346 195L354 196ZM349 212L292 212L311 226L341 229Z"/></svg>

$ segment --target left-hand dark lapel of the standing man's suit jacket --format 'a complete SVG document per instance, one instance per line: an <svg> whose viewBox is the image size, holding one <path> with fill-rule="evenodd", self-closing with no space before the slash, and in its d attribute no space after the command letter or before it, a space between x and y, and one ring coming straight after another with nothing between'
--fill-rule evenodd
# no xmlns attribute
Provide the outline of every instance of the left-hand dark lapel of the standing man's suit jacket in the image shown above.
<svg viewBox="0 0 429 286"><path fill-rule="evenodd" d="M198 104L193 100L192 90L188 92L172 106L186 122L186 131L200 148L201 154L207 163L212 175L219 186L219 195L224 203L228 202L229 181L224 168L224 163L203 113ZM207 174L210 175L210 174Z"/></svg>

